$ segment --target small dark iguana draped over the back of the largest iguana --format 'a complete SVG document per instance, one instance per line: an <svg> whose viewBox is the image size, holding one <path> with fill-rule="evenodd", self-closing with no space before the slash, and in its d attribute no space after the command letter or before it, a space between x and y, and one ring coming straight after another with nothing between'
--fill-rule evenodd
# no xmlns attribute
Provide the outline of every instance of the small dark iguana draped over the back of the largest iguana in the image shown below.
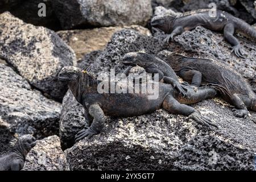
<svg viewBox="0 0 256 182"><path fill-rule="evenodd" d="M179 83L176 73L172 70L170 65L161 60L159 57L142 51L130 52L123 56L122 63L124 65L129 65L129 67L123 72L126 76L128 76L131 68L138 65L144 68L147 73L158 73L158 81L163 79L165 83L171 84L174 88L176 88L177 91L182 94L182 96L186 96L185 90L187 90L187 88Z"/></svg>

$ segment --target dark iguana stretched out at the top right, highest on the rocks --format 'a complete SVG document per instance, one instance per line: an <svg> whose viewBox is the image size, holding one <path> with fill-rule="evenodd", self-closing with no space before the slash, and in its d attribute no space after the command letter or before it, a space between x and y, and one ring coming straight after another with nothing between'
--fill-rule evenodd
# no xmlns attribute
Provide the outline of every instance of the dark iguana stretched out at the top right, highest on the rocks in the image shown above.
<svg viewBox="0 0 256 182"><path fill-rule="evenodd" d="M238 32L248 38L256 40L256 30L243 20L226 13L225 11L216 11L216 17L210 17L211 9L188 11L181 15L163 15L154 16L151 20L151 26L169 34L165 41L168 43L174 36L181 34L186 30L193 30L197 26L203 26L213 31L224 31L224 38L233 46L232 52L238 57L244 58L241 52L241 45L234 32Z"/></svg>

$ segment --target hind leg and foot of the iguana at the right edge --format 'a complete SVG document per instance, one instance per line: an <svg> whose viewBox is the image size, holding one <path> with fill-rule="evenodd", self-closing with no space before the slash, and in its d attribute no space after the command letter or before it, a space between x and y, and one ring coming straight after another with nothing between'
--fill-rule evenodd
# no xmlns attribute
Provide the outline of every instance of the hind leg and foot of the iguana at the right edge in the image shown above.
<svg viewBox="0 0 256 182"><path fill-rule="evenodd" d="M246 105L243 103L241 98L237 94L233 94L231 101L237 109L232 109L236 117L243 117L244 119L248 116L249 112Z"/></svg>

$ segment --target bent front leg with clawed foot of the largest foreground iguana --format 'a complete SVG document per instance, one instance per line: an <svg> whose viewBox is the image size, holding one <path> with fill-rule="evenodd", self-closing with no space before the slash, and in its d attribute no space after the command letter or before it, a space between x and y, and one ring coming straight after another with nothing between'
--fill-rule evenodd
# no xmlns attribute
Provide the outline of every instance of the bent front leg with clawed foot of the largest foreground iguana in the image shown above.
<svg viewBox="0 0 256 182"><path fill-rule="evenodd" d="M76 134L75 140L78 142L79 140L87 137L90 139L93 135L97 135L101 133L104 123L105 123L105 115L100 105L93 104L89 107L89 114L93 117L92 125L89 128L84 128L79 133Z"/></svg>

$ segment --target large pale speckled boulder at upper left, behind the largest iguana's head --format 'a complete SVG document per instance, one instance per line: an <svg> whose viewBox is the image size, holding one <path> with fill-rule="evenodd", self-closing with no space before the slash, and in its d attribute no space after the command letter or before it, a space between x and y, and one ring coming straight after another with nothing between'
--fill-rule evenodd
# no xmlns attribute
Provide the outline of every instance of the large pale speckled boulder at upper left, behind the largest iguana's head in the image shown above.
<svg viewBox="0 0 256 182"><path fill-rule="evenodd" d="M57 100L67 91L57 74L76 62L75 53L55 32L26 24L10 13L0 15L0 57L31 85Z"/></svg>

